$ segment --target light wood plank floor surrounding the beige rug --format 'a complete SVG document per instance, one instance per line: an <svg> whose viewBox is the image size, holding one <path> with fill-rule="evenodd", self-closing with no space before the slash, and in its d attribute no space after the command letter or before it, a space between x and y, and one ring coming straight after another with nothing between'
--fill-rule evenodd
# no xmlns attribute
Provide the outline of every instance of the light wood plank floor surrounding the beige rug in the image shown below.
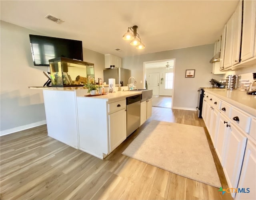
<svg viewBox="0 0 256 200"><path fill-rule="evenodd" d="M232 199L218 188L122 155L150 120L205 126L195 111L156 107L152 111L153 116L105 160L48 137L46 125L0 137L0 199ZM209 140L207 131L206 136ZM212 143L210 147L213 150ZM212 152L222 186L228 188Z"/></svg>

